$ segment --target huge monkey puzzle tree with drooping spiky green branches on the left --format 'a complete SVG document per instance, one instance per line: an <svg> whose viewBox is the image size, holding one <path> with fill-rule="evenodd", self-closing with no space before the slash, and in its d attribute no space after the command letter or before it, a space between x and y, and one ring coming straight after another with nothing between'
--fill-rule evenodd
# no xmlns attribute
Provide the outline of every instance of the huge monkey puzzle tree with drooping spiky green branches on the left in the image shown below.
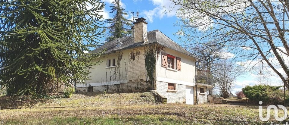
<svg viewBox="0 0 289 125"><path fill-rule="evenodd" d="M9 94L48 94L53 86L85 83L101 52L100 0L2 0L0 85ZM88 6L90 5L90 6ZM92 6L92 8L91 8Z"/></svg>

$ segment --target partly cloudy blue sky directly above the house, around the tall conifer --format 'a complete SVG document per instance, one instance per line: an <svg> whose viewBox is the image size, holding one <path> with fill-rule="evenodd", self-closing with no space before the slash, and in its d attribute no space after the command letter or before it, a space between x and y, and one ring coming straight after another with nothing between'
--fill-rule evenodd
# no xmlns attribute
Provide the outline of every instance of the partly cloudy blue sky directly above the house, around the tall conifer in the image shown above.
<svg viewBox="0 0 289 125"><path fill-rule="evenodd" d="M112 1L113 0L104 0L106 4L104 8L105 18L112 16L112 14L108 14L110 12L108 6ZM173 35L173 33L176 33L179 30L179 27L174 27L177 17L174 12L168 14L163 13L163 5L172 5L167 2L166 0L122 0L122 5L125 8L125 11L128 11L128 19L132 20L133 17L132 13L129 12L134 12L136 17L136 12L138 11L139 17L144 17L148 22L148 31L158 29L177 42L177 37Z"/></svg>

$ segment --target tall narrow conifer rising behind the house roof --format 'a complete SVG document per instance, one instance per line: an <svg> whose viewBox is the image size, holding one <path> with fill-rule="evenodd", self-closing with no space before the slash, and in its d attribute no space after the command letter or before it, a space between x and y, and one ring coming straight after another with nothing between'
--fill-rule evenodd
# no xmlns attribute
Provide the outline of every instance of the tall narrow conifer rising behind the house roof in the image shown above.
<svg viewBox="0 0 289 125"><path fill-rule="evenodd" d="M114 13L112 19L107 19L105 23L108 23L110 26L106 27L108 29L108 36L106 41L112 41L117 38L122 38L129 36L131 33L130 27L132 26L132 21L126 19L124 16L128 15L120 5L120 0L114 0L111 3L111 12Z"/></svg>

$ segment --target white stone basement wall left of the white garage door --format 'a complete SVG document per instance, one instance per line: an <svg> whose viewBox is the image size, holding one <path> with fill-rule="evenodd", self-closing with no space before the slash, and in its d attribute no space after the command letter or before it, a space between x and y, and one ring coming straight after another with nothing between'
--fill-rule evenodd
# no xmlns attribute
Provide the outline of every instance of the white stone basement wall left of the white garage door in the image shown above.
<svg viewBox="0 0 289 125"><path fill-rule="evenodd" d="M185 103L186 101L186 86L176 84L176 92L167 91L168 83L156 82L157 92L167 98L167 103Z"/></svg>

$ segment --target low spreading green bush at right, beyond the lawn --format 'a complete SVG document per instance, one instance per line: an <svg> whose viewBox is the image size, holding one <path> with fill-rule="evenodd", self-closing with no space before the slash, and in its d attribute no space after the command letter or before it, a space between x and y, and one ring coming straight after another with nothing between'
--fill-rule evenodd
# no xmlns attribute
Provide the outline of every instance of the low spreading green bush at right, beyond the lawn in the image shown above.
<svg viewBox="0 0 289 125"><path fill-rule="evenodd" d="M284 91L280 89L281 87L269 85L246 86L243 93L255 104L262 101L265 105L277 105L284 102ZM289 100L288 95L286 96Z"/></svg>

